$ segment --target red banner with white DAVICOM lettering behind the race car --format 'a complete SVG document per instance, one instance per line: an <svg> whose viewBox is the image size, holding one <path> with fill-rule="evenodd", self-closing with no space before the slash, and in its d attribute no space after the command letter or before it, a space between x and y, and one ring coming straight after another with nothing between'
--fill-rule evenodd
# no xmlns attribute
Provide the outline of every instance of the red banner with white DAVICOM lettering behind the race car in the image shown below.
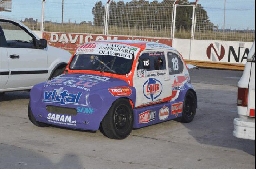
<svg viewBox="0 0 256 169"><path fill-rule="evenodd" d="M149 38L138 36L106 36L101 34L85 34L85 33L59 33L59 32L43 32L43 38L47 40L48 44L70 52L84 43L95 40L143 40L148 42L163 43L172 46L171 38Z"/></svg>

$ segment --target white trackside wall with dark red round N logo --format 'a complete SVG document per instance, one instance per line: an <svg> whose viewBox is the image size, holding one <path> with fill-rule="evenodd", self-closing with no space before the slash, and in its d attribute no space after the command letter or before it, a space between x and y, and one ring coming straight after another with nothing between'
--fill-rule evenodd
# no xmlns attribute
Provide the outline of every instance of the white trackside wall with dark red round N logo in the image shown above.
<svg viewBox="0 0 256 169"><path fill-rule="evenodd" d="M181 53L184 59L189 59L189 52L191 52L191 60L240 64L246 63L246 58L242 58L243 56L247 57L247 53L252 46L252 42L191 40L190 51L190 39L175 38L172 44L173 47ZM238 53L239 48L240 52Z"/></svg>

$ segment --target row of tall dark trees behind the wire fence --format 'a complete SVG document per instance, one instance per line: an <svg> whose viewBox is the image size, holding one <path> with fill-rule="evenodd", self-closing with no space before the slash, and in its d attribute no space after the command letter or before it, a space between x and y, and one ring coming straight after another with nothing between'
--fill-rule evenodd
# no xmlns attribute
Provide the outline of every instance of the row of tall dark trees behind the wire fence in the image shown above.
<svg viewBox="0 0 256 169"><path fill-rule="evenodd" d="M183 0L187 3L188 0ZM135 28L150 30L166 30L172 25L172 5L174 0L146 1L131 0L124 4L123 1L111 1L109 4L109 26L119 28ZM190 30L192 26L191 6L179 6L176 12L176 28L182 26L185 30ZM200 4L197 4L198 15L197 23L206 23L207 29L213 29L215 26L210 22L207 11ZM101 1L95 4L92 14L94 15L94 25L103 25L104 6Z"/></svg>

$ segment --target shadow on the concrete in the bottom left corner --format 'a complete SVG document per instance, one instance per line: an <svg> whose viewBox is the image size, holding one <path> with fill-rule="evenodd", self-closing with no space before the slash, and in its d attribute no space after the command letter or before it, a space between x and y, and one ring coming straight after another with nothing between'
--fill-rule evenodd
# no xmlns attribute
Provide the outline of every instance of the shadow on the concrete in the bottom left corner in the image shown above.
<svg viewBox="0 0 256 169"><path fill-rule="evenodd" d="M23 169L23 168L83 168L79 157L74 154L57 154L51 152L33 151L1 143L1 168ZM56 155L58 161L52 161Z"/></svg>

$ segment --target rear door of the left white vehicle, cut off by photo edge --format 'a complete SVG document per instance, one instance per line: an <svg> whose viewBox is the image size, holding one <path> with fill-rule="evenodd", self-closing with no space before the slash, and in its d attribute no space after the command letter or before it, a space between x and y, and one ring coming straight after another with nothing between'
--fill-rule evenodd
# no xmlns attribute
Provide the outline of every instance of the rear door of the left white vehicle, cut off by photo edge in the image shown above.
<svg viewBox="0 0 256 169"><path fill-rule="evenodd" d="M1 36L1 49L0 49L0 57L1 57L1 89L6 85L9 78L9 69L8 69L8 53L7 53L7 42L4 37L3 30L0 26L0 36Z"/></svg>

